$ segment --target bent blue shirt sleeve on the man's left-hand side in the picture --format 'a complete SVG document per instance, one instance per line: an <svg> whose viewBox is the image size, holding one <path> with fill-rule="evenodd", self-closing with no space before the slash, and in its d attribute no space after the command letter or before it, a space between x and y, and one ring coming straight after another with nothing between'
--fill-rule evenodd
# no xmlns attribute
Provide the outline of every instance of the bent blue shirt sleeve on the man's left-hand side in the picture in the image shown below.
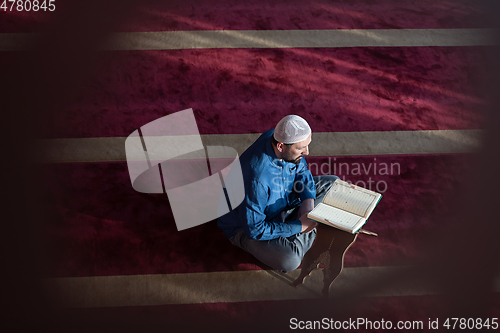
<svg viewBox="0 0 500 333"><path fill-rule="evenodd" d="M250 184L242 210L243 221L245 221L245 233L248 237L256 240L270 240L278 237L289 237L302 231L299 220L290 222L266 220L265 210L269 204L269 193L267 188L257 181Z"/></svg>

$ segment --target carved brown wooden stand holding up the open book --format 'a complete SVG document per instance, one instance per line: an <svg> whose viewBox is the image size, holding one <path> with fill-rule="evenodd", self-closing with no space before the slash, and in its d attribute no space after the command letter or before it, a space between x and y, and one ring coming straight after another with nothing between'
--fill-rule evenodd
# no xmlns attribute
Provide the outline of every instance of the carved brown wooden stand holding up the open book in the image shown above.
<svg viewBox="0 0 500 333"><path fill-rule="evenodd" d="M323 268L323 289L321 291L324 297L328 297L330 285L344 268L344 254L347 249L356 241L359 233L366 233L377 236L377 234L366 230L359 230L351 234L337 228L318 223L316 226L316 239L312 247L307 251L302 259L302 269L299 277L292 282L292 286L297 287L304 282L306 276L319 268Z"/></svg>

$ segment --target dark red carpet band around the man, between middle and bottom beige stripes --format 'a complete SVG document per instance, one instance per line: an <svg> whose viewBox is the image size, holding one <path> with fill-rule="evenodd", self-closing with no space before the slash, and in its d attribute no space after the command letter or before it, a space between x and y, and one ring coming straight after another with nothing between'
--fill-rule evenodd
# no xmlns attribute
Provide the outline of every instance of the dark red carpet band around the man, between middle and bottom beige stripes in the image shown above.
<svg viewBox="0 0 500 333"><path fill-rule="evenodd" d="M330 162L327 157L310 157L308 161L314 174L321 174L321 168L329 173L330 165L331 173L337 168L337 175L346 180L371 180L366 187L387 188L366 225L380 237L358 238L345 257L345 265L352 267L405 264L421 254L427 235L441 227L438 217L449 208L445 198L467 177L469 157L363 156L330 158ZM349 172L341 163L350 165ZM371 169L366 173L361 167L361 175L353 175L355 163ZM382 171L384 163L389 173L394 167L393 175ZM46 168L58 207L47 230L53 276L260 269L253 257L229 243L215 221L178 232L167 197L135 192L126 163Z"/></svg>

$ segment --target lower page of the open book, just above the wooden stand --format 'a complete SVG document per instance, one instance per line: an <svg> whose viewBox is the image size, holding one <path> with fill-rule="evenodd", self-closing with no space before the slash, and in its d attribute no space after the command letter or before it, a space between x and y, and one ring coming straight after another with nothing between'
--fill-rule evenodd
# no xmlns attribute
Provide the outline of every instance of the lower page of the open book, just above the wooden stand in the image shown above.
<svg viewBox="0 0 500 333"><path fill-rule="evenodd" d="M318 204L307 216L313 220L336 226L350 233L356 231L365 221L365 219L360 216L323 203Z"/></svg>

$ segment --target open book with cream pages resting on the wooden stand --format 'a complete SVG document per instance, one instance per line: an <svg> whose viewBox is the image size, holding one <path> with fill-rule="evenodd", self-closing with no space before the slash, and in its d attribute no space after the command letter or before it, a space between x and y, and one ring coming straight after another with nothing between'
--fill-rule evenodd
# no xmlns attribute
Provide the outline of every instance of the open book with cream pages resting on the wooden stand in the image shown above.
<svg viewBox="0 0 500 333"><path fill-rule="evenodd" d="M378 204L382 194L337 179L307 217L326 225L356 233Z"/></svg>

